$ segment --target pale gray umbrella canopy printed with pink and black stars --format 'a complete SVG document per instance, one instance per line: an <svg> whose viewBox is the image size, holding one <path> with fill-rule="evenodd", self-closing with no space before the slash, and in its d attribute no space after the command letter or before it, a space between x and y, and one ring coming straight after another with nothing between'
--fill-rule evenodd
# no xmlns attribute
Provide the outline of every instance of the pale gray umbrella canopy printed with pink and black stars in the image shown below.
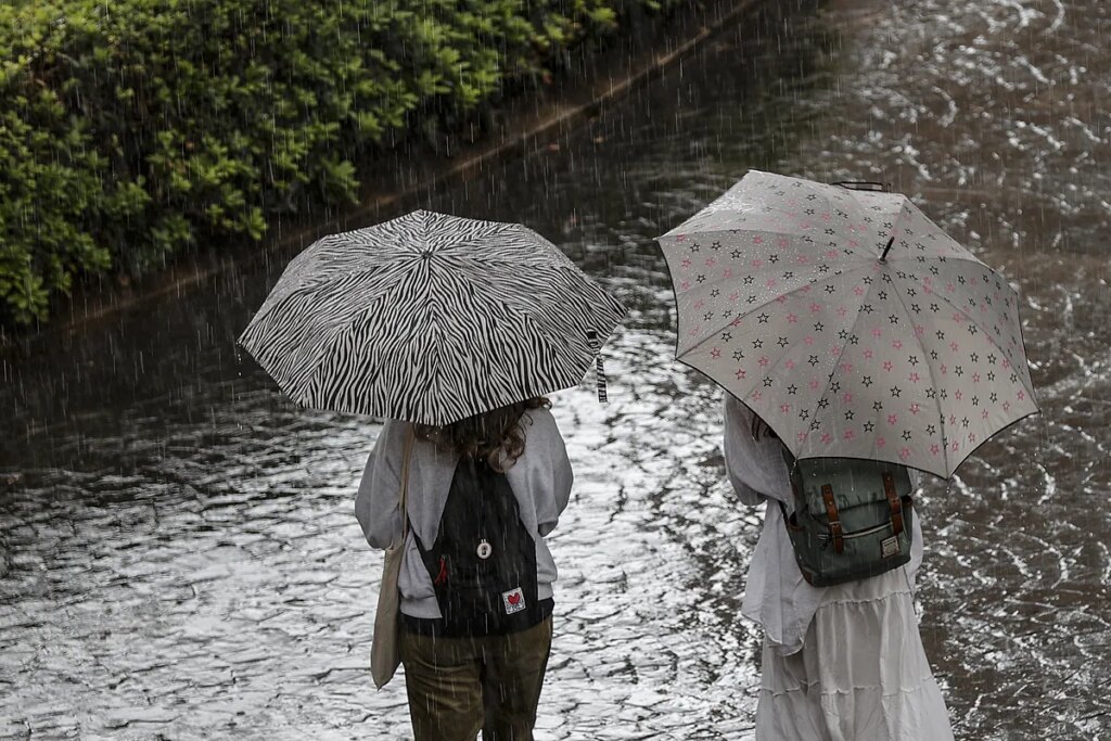
<svg viewBox="0 0 1111 741"><path fill-rule="evenodd" d="M948 478L1038 411L1015 291L905 196L751 171L659 242L677 357L797 458Z"/></svg>

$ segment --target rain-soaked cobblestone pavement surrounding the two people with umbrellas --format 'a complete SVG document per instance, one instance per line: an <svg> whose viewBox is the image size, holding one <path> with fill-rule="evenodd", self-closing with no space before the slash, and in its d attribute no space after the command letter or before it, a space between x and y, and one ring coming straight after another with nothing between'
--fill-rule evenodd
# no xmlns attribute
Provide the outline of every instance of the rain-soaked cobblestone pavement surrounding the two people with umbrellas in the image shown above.
<svg viewBox="0 0 1111 741"><path fill-rule="evenodd" d="M928 485L923 638L958 738L1111 738L1109 23L1100 0L803 3L426 203L533 226L633 309L611 402L554 398L577 483L538 738L752 738L761 514L723 481L719 392L669 360L651 242L750 167L890 180L1019 286L1044 414ZM381 555L352 500L378 427L292 408L233 349L276 277L4 362L0 738L411 738L403 682L368 670Z"/></svg>

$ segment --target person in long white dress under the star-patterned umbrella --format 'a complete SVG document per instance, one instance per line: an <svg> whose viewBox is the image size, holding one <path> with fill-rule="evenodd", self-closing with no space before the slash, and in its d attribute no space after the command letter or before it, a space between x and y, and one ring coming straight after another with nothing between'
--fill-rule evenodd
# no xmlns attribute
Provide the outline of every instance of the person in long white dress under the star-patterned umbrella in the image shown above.
<svg viewBox="0 0 1111 741"><path fill-rule="evenodd" d="M914 613L919 518L908 564L811 587L774 503L793 510L783 443L728 393L724 415L733 489L745 504L769 502L741 609L764 631L757 741L950 741Z"/></svg>

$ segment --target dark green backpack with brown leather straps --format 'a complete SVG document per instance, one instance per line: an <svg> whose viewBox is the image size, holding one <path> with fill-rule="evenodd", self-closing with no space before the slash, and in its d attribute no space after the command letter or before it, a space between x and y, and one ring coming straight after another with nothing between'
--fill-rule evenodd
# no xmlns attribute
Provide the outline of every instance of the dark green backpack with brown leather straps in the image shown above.
<svg viewBox="0 0 1111 741"><path fill-rule="evenodd" d="M914 502L907 467L857 458L784 458L794 512L780 507L809 583L867 579L910 561Z"/></svg>

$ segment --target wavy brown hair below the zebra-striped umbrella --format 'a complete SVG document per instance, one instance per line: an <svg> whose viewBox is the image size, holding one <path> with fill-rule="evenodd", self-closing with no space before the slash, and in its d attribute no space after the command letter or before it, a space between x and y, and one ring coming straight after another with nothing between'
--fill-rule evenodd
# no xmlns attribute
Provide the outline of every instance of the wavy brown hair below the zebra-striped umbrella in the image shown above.
<svg viewBox="0 0 1111 741"><path fill-rule="evenodd" d="M506 471L524 452L524 430L521 418L530 409L550 408L543 397L519 401L489 412L474 414L443 427L417 424L417 437L429 440L441 450L459 455L486 458L496 471Z"/></svg>

